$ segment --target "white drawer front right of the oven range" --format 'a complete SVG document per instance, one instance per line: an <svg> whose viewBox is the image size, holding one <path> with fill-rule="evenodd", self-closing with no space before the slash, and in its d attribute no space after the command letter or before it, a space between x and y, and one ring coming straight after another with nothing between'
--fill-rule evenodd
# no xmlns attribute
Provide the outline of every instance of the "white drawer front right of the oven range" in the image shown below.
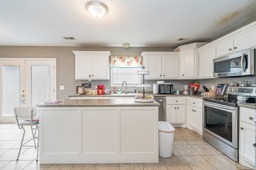
<svg viewBox="0 0 256 170"><path fill-rule="evenodd" d="M254 119L256 118L255 109L240 107L240 121L255 125Z"/></svg>

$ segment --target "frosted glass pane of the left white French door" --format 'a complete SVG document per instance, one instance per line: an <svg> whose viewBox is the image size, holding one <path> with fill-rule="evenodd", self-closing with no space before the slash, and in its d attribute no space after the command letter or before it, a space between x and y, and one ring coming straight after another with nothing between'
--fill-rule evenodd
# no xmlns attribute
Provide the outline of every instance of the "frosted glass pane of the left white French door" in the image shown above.
<svg viewBox="0 0 256 170"><path fill-rule="evenodd" d="M14 116L14 107L20 107L20 66L2 67L2 113Z"/></svg>

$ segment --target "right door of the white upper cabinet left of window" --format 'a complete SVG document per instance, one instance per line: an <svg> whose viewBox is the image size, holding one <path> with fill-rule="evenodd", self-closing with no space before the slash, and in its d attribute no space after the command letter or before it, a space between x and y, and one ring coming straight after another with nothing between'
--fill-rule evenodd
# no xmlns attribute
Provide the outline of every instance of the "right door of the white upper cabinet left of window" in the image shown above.
<svg viewBox="0 0 256 170"><path fill-rule="evenodd" d="M109 57L105 55L92 55L92 79L109 80Z"/></svg>

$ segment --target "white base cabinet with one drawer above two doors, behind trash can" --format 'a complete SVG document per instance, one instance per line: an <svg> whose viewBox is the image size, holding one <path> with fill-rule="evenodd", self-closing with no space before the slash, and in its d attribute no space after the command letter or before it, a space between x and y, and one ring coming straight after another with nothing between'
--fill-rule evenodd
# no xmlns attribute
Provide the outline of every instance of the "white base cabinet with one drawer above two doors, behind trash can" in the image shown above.
<svg viewBox="0 0 256 170"><path fill-rule="evenodd" d="M166 121L171 124L186 123L186 98L166 97Z"/></svg>

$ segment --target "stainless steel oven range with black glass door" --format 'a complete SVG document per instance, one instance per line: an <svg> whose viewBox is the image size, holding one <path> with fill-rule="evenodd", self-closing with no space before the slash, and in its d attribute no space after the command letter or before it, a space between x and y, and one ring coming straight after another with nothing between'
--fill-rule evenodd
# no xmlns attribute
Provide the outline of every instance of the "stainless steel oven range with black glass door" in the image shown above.
<svg viewBox="0 0 256 170"><path fill-rule="evenodd" d="M238 103L255 103L256 87L228 86L227 98L203 99L203 139L238 162ZM247 96L238 101L238 95Z"/></svg>

